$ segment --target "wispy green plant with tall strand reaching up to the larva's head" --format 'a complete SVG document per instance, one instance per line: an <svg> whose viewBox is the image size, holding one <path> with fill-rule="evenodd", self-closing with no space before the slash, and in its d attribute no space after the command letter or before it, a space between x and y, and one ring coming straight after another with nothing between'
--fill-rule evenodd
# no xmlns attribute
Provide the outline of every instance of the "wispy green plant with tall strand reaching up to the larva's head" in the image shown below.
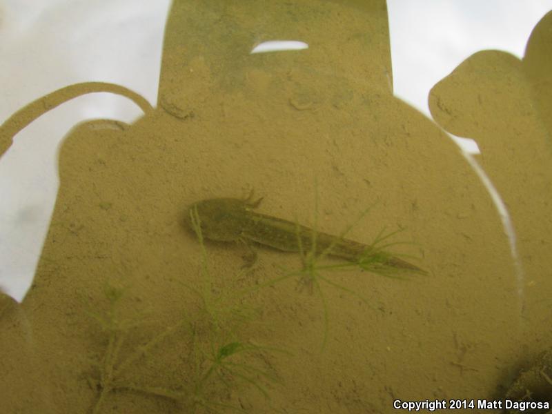
<svg viewBox="0 0 552 414"><path fill-rule="evenodd" d="M266 362L268 354L286 353L280 348L253 344L240 334L245 325L250 328L258 316L253 308L244 304L233 290L222 290L213 294L213 276L210 273L208 255L201 233L201 221L197 209L192 209L190 224L200 246L199 288L184 284L200 299L200 306L190 327L190 372L192 379L186 391L171 391L161 388L147 388L148 393L170 397L179 402L186 401L191 412L200 408L219 413L221 409L245 412L243 408L221 402L224 391L240 386L253 386L267 400L270 400L268 384L279 382Z"/></svg>

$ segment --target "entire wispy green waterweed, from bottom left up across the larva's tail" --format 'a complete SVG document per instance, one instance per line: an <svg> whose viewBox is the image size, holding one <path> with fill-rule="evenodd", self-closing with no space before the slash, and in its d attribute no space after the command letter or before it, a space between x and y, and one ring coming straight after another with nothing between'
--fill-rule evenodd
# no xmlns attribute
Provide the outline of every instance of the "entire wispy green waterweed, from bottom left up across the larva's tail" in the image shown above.
<svg viewBox="0 0 552 414"><path fill-rule="evenodd" d="M280 268L280 276L255 288L239 291L223 289L219 292L209 269L201 217L197 208L190 208L189 223L201 249L200 278L199 283L193 286L182 284L193 293L196 304L194 306L188 301L186 314L183 312L171 326L150 333L152 328L144 327L144 317L124 317L121 303L124 302L126 290L110 284L104 287L106 310L89 312L101 328L104 343L103 351L91 362L90 371L86 373L88 384L96 392L92 414L103 412L114 392L149 396L161 399L165 404L172 402L186 413L250 412L238 397L248 393L248 389L270 402L270 389L280 380L269 361L275 353L291 354L281 348L255 344L251 339L248 332L251 332L253 324L259 322L259 314L244 300L246 295L286 279L297 279L298 290L306 288L316 293L322 302L324 348L329 326L324 286L353 295L370 305L362 293L335 282L332 272L369 271L387 277L424 273L388 253L388 248L399 244L389 242L397 232L384 233L383 230L372 244L365 246L362 254L348 260L326 260L328 256L335 257L335 247L369 210L366 209L342 234L333 237L331 243L322 243L321 247L320 235L324 233L317 231L316 201L315 223L308 238L302 233L304 227L298 224L293 231L300 257L299 268ZM171 382L168 384L164 382L168 377L167 367L157 364L159 357L165 353L176 355L181 362L170 367L174 372L169 376ZM148 370L148 375L140 375L140 368Z"/></svg>

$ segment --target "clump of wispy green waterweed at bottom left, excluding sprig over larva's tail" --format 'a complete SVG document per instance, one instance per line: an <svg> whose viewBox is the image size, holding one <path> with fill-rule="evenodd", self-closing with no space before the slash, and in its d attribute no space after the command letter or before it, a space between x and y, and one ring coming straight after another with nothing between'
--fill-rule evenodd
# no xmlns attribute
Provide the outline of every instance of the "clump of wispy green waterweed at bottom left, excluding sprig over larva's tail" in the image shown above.
<svg viewBox="0 0 552 414"><path fill-rule="evenodd" d="M235 402L228 402L230 394L250 387L266 400L270 400L268 384L279 383L277 374L268 365L273 353L287 351L255 344L246 338L241 327L246 322L254 322L255 313L244 304L233 303L232 293L213 293L213 283L208 269L207 254L199 228L201 242L201 288L193 290L199 298L199 309L194 317L183 315L175 324L152 335L138 346L139 331L146 323L143 317L126 319L121 312L121 301L125 289L106 284L103 293L108 302L106 311L89 311L103 333L106 342L103 353L90 362L91 369L86 373L88 384L97 392L92 406L92 414L99 414L106 406L111 393L126 391L170 400L178 404L186 413L246 413ZM142 384L132 379L132 371L139 366L153 366L157 348L172 337L177 338L181 359L185 360L186 372L179 373L180 384L164 387ZM168 342L168 341L167 341ZM159 350L158 354L167 350ZM159 371L159 378L165 373ZM155 376L155 375L154 375Z"/></svg>

